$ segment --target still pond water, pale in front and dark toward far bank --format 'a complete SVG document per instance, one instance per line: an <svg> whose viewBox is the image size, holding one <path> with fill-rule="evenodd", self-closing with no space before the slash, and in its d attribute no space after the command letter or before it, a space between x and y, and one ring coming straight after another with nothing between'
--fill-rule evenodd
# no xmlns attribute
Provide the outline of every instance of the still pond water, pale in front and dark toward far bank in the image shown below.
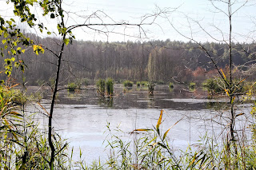
<svg viewBox="0 0 256 170"><path fill-rule="evenodd" d="M44 89L43 93L41 103L49 110L50 90ZM223 107L228 101L225 98L210 100L202 89L190 91L186 86L176 85L170 90L168 85L157 85L154 96L149 96L146 88L134 87L124 91L122 85L115 85L114 94L110 100L99 97L90 88L79 93L67 93L66 90L58 93L54 109L54 131L67 139L70 147L74 147L74 160L78 160L80 148L82 158L88 163L98 160L99 156L101 160L106 159L109 151L104 140L109 139L106 128L108 123L113 131L117 127L122 130L123 133L117 134L122 139L133 140L134 134L130 132L135 128L155 126L161 109L165 110L162 132L182 119L168 133L168 140L174 150L184 150L189 144L197 144L206 132L209 136L225 132L228 114L223 111ZM38 107L34 108L34 111L37 110ZM250 115L250 104L240 105L238 112ZM237 128L248 126L246 117L239 120ZM40 117L39 121L45 127L48 124L47 117Z"/></svg>

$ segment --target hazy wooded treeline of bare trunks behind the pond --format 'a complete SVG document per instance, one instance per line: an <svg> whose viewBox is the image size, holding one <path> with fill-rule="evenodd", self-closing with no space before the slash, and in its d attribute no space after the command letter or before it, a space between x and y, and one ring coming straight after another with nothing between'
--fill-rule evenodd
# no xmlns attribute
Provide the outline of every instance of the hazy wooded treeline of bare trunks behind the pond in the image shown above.
<svg viewBox="0 0 256 170"><path fill-rule="evenodd" d="M45 48L44 54L37 56L30 47L19 58L24 61L28 70L23 74L28 85L38 85L38 82L54 79L56 57L46 49L58 51L60 40L38 38L34 34L29 34L28 37L38 44L46 45L42 47ZM203 45L210 51L214 61L217 61L218 67L227 72L229 45L216 42L204 42ZM237 77L250 75L250 80L254 80L255 44L237 43L233 46L234 68L239 68L239 71L234 69L234 73ZM7 51L5 55L8 55ZM3 59L0 60L1 65L4 65ZM92 82L106 77L117 82L130 80L186 84L218 75L214 65L210 64L210 58L206 57L206 52L196 43L172 42L169 39L143 43L74 40L65 48L62 61L62 85L76 79L87 78ZM17 81L22 80L20 69L14 69L13 72Z"/></svg>

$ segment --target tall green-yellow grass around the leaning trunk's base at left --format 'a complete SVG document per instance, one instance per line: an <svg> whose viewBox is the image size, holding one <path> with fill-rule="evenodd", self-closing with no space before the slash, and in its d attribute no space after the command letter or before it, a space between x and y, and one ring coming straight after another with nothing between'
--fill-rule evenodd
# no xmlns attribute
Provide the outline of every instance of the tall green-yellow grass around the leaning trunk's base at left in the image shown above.
<svg viewBox="0 0 256 170"><path fill-rule="evenodd" d="M25 112L26 95L12 87L0 86L0 167L1 169L49 169L50 148L46 132L39 130L34 114ZM26 101L26 102L25 102ZM54 133L58 149L54 162L60 169L70 169L66 146Z"/></svg>

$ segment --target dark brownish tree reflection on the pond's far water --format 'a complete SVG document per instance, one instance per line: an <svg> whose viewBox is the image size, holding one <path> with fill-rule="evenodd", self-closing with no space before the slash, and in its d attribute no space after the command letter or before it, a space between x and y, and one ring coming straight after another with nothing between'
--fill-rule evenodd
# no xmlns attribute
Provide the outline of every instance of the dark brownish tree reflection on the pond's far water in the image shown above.
<svg viewBox="0 0 256 170"><path fill-rule="evenodd" d="M46 99L51 97L49 91L45 96ZM186 85L175 85L174 89L170 89L168 85L156 85L151 95L147 88L124 88L123 85L115 85L114 96L109 98L99 97L94 89L81 90L80 93L68 93L62 90L58 93L58 104L98 105L110 109L201 110L220 109L225 103L225 100L209 100L207 92L203 89L190 91Z"/></svg>

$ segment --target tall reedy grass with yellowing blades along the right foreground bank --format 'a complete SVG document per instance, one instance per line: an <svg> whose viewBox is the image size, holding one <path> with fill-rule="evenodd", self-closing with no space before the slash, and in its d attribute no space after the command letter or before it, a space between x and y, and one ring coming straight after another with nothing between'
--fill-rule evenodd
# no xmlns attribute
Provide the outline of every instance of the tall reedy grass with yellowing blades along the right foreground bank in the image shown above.
<svg viewBox="0 0 256 170"><path fill-rule="evenodd" d="M162 132L163 110L153 128L137 128L131 132L134 141L124 140L125 132L117 129L113 132L107 125L109 137L107 147L110 155L99 169L255 169L256 149L246 140L239 141L238 153L234 154L232 143L226 138L219 139L206 133L195 146L186 150L174 151L168 140L171 128ZM181 121L181 120L180 120ZM166 122L165 122L166 123ZM116 135L119 133L119 136ZM235 164L238 163L238 164Z"/></svg>

